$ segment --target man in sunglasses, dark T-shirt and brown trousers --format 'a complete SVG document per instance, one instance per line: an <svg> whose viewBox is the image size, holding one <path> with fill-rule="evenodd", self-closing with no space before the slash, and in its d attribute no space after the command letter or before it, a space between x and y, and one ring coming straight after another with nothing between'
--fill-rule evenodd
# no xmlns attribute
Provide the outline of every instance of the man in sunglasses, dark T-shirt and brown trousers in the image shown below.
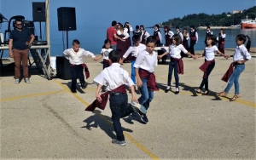
<svg viewBox="0 0 256 160"><path fill-rule="evenodd" d="M32 45L35 37L26 28L22 28L22 20L15 20L15 29L9 37L9 57L15 60L15 84L20 83L20 61L23 66L23 76L26 83L30 83L28 75L28 48Z"/></svg>

